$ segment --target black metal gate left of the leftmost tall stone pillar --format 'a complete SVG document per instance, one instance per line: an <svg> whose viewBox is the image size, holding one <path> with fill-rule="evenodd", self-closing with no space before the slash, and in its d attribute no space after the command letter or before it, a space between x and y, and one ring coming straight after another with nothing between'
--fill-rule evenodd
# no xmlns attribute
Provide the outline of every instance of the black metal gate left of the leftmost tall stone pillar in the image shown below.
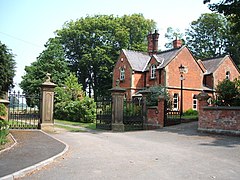
<svg viewBox="0 0 240 180"><path fill-rule="evenodd" d="M40 128L40 96L9 93L8 123L11 129Z"/></svg>

